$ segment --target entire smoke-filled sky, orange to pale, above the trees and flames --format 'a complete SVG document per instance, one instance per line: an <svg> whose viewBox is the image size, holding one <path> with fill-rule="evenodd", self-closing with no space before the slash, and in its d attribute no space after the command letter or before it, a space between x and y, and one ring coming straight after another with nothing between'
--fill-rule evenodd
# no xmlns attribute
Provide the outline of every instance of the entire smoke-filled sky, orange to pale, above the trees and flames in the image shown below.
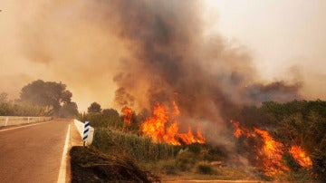
<svg viewBox="0 0 326 183"><path fill-rule="evenodd" d="M12 98L42 79L67 84L81 111L92 101L205 101L206 111L326 100L322 0L5 0L0 9L0 92Z"/></svg>

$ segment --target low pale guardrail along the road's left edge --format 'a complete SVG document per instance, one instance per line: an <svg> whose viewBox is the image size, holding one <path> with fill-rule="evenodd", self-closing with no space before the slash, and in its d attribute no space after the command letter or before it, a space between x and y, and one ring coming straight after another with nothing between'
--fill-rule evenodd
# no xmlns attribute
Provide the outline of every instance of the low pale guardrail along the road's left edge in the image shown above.
<svg viewBox="0 0 326 183"><path fill-rule="evenodd" d="M0 127L18 124L43 122L53 120L53 117L20 117L20 116L0 116Z"/></svg>

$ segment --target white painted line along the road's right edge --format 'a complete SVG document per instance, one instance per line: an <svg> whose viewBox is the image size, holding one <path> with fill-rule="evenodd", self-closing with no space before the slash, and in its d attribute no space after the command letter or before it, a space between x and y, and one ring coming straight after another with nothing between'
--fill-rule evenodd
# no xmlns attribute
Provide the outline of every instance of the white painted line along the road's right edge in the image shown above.
<svg viewBox="0 0 326 183"><path fill-rule="evenodd" d="M70 124L68 125L68 131L66 140L64 142L63 152L62 152L62 161L59 169L58 183L66 182L66 171L67 171L67 153L69 148L69 138L70 138Z"/></svg>

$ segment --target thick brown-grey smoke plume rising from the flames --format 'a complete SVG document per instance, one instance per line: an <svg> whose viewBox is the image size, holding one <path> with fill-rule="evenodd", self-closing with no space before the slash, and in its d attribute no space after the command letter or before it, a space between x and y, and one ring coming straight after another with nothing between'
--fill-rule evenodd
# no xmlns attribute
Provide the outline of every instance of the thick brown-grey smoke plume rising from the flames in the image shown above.
<svg viewBox="0 0 326 183"><path fill-rule="evenodd" d="M137 108L177 101L185 117L216 121L243 104L299 97L299 84L259 82L245 48L204 35L197 1L101 2L132 55L115 77L116 101L135 99Z"/></svg>

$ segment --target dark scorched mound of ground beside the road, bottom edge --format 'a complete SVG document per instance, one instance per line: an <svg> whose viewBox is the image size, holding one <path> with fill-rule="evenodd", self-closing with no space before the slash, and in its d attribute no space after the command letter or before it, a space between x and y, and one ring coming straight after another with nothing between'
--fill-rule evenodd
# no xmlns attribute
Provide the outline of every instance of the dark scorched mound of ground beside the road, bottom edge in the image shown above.
<svg viewBox="0 0 326 183"><path fill-rule="evenodd" d="M132 159L107 155L87 147L72 147L72 183L77 182L159 182L158 177L139 169Z"/></svg>

